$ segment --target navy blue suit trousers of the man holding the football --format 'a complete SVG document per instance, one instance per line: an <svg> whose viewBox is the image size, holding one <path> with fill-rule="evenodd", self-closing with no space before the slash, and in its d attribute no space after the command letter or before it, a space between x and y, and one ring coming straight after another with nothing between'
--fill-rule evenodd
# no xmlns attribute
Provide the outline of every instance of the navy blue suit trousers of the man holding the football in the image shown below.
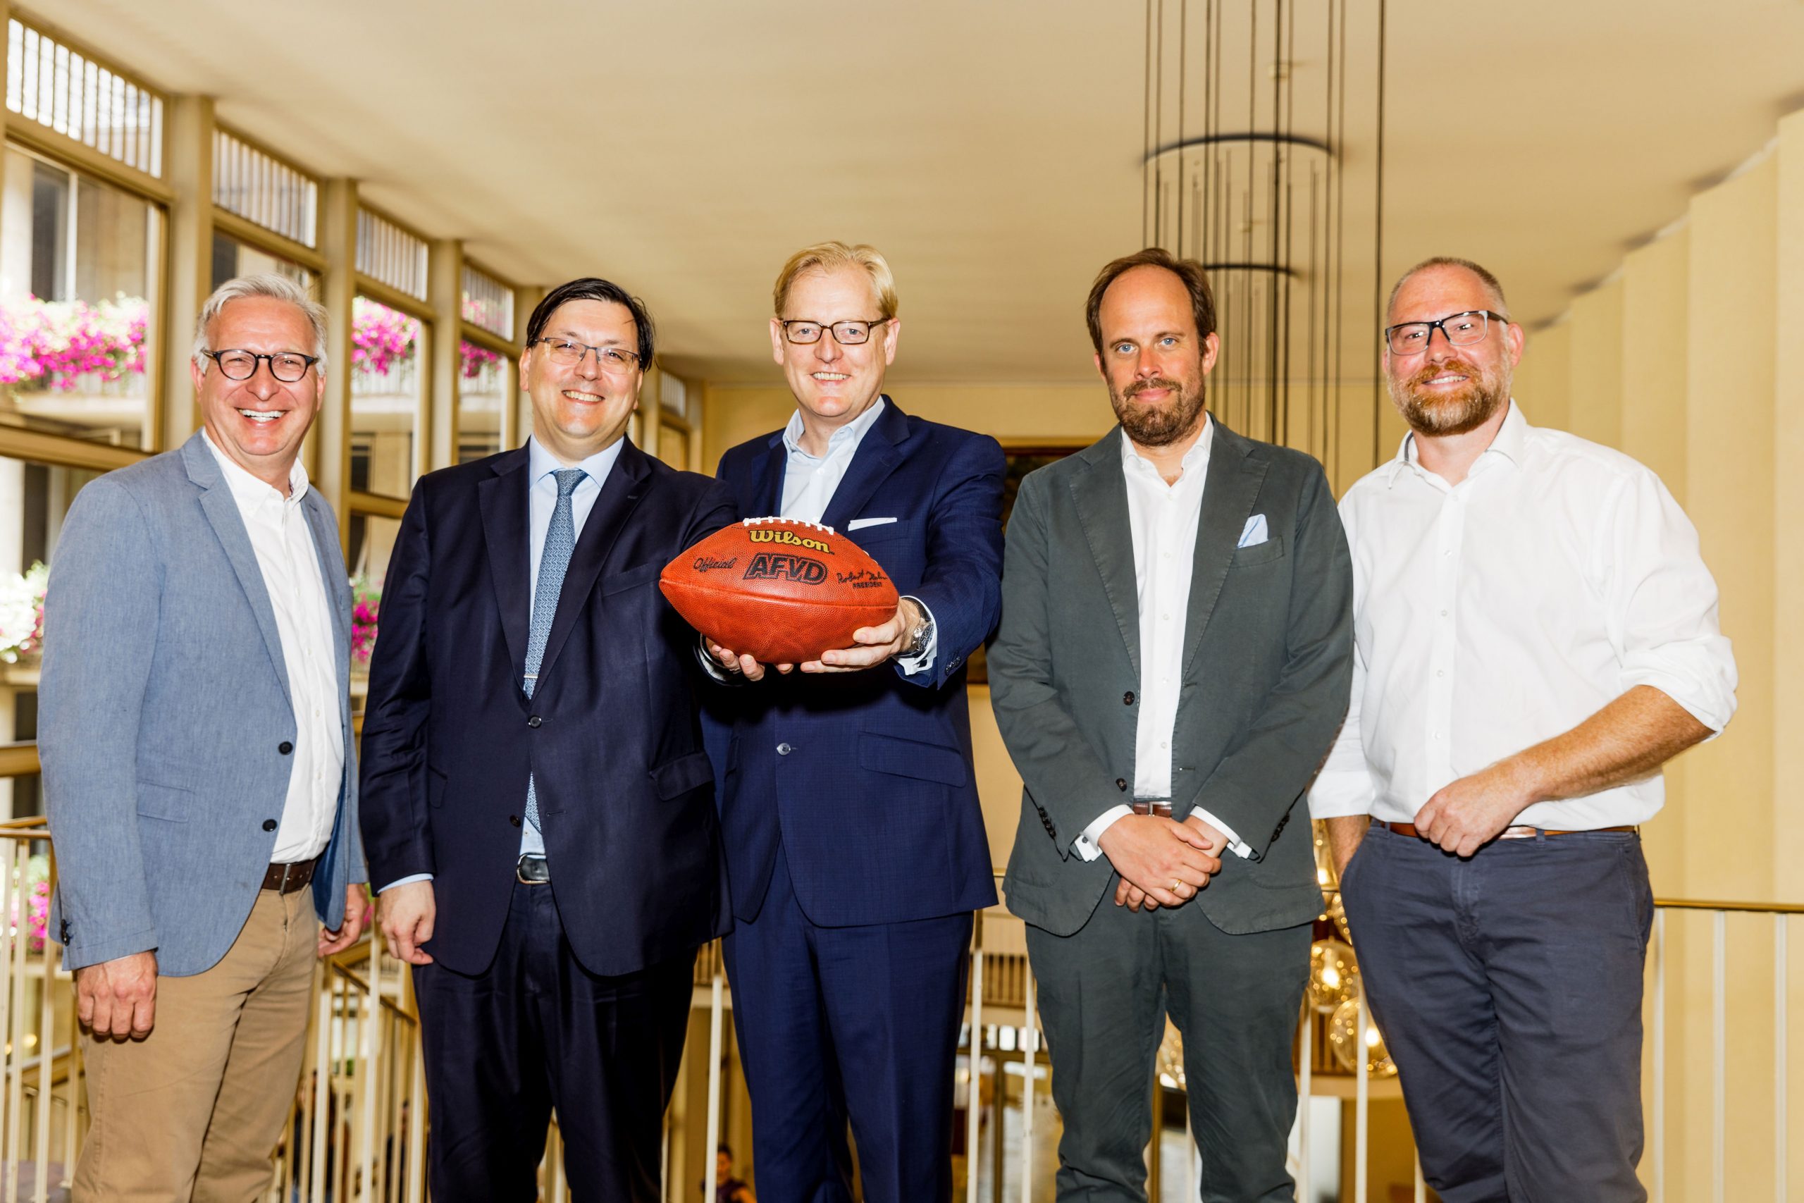
<svg viewBox="0 0 1804 1203"><path fill-rule="evenodd" d="M732 1024L752 1097L758 1203L953 1196L953 1062L971 914L819 927L781 849L758 918L725 938Z"/></svg>

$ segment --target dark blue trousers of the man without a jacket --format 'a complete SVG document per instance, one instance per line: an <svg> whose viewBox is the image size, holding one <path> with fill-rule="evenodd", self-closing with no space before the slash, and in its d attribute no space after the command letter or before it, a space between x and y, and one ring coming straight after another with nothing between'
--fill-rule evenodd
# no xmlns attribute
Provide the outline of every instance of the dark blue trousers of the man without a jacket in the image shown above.
<svg viewBox="0 0 1804 1203"><path fill-rule="evenodd" d="M1445 1203L1642 1203L1642 840L1373 826L1340 880L1422 1171Z"/></svg>

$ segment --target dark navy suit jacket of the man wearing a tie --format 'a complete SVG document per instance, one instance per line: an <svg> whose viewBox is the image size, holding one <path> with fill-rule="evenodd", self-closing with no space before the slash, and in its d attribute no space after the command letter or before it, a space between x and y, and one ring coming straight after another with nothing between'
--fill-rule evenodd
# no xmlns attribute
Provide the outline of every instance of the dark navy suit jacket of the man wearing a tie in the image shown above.
<svg viewBox="0 0 1804 1203"><path fill-rule="evenodd" d="M363 725L370 877L435 875L424 947L482 972L532 774L565 936L590 972L628 974L732 923L696 635L658 592L664 565L732 510L716 482L621 447L529 700L527 476L525 449L429 473L400 519Z"/></svg>

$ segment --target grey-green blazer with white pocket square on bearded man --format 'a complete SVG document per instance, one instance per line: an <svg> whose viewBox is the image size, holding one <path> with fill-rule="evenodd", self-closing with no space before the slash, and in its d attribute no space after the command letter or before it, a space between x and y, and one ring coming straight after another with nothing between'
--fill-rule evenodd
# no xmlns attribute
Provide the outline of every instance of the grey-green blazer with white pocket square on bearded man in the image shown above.
<svg viewBox="0 0 1804 1203"><path fill-rule="evenodd" d="M1057 936L1113 896L1108 857L1072 840L1129 801L1140 693L1120 427L1021 482L1008 519L990 696L1021 772L1008 909ZM1236 546L1265 514L1268 537ZM1216 422L1196 534L1173 752L1173 815L1192 806L1254 849L1221 853L1191 905L1227 932L1321 913L1302 792L1346 716L1353 572L1321 464Z"/></svg>

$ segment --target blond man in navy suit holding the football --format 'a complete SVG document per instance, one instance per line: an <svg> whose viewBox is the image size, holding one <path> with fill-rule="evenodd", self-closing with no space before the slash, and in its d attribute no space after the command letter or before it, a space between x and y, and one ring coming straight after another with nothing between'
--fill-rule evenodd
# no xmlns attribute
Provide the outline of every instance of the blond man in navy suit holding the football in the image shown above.
<svg viewBox="0 0 1804 1203"><path fill-rule="evenodd" d="M763 1203L949 1199L971 913L996 902L971 768L965 658L999 608L1003 453L882 395L889 265L828 242L783 267L770 346L788 427L729 451L741 518L851 536L902 592L853 647L729 685L709 750L738 925L725 943ZM796 671L799 669L799 671Z"/></svg>

